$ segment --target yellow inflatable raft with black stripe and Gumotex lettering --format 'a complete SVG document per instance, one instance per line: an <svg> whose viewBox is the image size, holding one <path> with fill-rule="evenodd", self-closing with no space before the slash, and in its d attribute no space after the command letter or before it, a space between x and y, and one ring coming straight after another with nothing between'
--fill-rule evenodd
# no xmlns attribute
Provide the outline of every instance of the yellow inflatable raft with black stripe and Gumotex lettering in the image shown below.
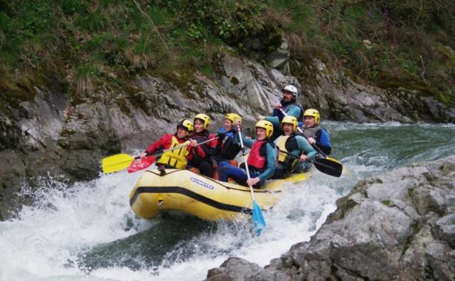
<svg viewBox="0 0 455 281"><path fill-rule="evenodd" d="M264 188L255 189L257 203L263 209L274 206L284 184L304 181L308 176L301 173L267 182ZM158 170L145 171L129 195L129 205L142 218L183 211L215 221L252 212L250 188L180 169L166 169L164 174Z"/></svg>

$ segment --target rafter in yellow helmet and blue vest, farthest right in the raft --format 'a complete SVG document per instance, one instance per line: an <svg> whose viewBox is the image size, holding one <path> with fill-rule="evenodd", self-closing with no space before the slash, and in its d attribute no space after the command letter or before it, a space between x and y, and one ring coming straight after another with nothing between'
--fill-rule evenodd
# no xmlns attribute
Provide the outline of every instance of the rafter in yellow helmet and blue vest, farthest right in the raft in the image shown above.
<svg viewBox="0 0 455 281"><path fill-rule="evenodd" d="M324 154L329 155L332 152L330 135L326 129L319 126L319 120L321 115L318 110L312 108L305 110L303 134L309 144L316 145Z"/></svg>

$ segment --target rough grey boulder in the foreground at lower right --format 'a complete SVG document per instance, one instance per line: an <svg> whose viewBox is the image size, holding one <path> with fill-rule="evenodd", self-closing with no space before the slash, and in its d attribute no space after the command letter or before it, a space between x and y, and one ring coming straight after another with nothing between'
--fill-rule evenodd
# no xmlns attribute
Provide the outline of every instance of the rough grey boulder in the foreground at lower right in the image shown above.
<svg viewBox="0 0 455 281"><path fill-rule="evenodd" d="M455 157L360 181L337 206L266 267L230 258L208 280L454 280Z"/></svg>

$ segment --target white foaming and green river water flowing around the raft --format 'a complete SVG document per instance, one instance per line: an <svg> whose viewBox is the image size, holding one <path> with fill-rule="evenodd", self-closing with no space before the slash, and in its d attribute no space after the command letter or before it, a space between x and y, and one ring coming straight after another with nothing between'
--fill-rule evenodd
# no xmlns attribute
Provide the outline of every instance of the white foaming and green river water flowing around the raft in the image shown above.
<svg viewBox="0 0 455 281"><path fill-rule="evenodd" d="M230 256L264 266L309 240L358 180L455 152L454 125L325 126L343 175L314 170L309 181L289 185L264 212L267 228L259 237L247 220L135 217L128 199L140 172L71 186L47 179L38 191L24 190L23 196L35 199L33 206L0 222L0 280L203 280Z"/></svg>

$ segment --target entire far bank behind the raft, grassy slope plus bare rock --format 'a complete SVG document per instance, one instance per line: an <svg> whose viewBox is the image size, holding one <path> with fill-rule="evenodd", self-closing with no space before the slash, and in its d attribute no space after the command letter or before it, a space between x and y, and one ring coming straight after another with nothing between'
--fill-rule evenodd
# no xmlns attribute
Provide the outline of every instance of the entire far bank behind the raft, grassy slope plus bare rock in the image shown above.
<svg viewBox="0 0 455 281"><path fill-rule="evenodd" d="M322 120L455 122L449 7L267 3L1 4L0 221L23 187L96 179L183 117L251 126L288 84Z"/></svg>

